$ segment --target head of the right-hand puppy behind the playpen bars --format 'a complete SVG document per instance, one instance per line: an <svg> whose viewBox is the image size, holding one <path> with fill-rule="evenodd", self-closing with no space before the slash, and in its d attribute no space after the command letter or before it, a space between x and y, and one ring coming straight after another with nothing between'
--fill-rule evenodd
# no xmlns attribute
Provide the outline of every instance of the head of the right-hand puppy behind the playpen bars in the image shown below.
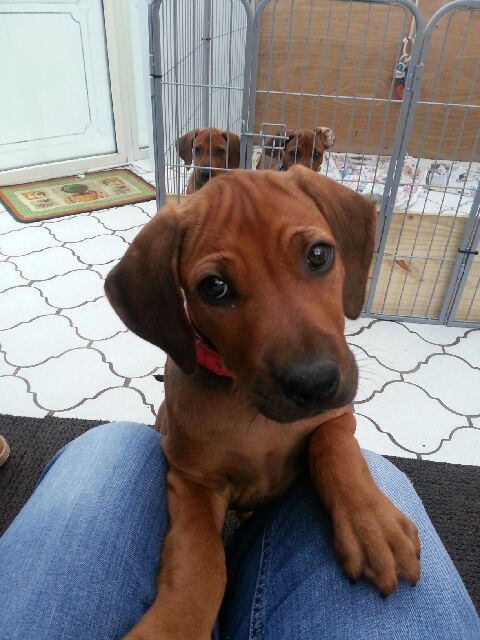
<svg viewBox="0 0 480 640"><path fill-rule="evenodd" d="M285 170L300 164L317 172L322 166L323 154L335 142L333 131L327 127L288 131L287 135L288 140L283 151Z"/></svg>

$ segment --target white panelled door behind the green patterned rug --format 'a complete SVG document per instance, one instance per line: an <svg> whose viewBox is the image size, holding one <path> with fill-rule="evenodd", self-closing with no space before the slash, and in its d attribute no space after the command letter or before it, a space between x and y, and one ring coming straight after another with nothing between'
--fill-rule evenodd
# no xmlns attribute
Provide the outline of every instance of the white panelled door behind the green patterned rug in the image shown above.
<svg viewBox="0 0 480 640"><path fill-rule="evenodd" d="M114 3L0 0L0 184L126 162Z"/></svg>

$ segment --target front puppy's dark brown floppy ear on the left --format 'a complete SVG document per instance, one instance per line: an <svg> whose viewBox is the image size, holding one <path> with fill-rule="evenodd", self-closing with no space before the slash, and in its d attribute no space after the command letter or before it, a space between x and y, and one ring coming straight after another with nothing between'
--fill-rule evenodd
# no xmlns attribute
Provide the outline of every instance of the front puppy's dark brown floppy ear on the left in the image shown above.
<svg viewBox="0 0 480 640"><path fill-rule="evenodd" d="M166 351L185 373L192 373L194 335L178 280L182 237L178 214L163 207L110 271L105 292L129 329Z"/></svg>

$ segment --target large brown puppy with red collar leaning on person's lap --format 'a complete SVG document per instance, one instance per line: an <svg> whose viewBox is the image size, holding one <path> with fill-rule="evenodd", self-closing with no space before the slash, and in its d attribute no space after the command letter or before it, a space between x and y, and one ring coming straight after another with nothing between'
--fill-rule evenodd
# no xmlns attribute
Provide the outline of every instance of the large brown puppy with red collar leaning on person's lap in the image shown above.
<svg viewBox="0 0 480 640"><path fill-rule="evenodd" d="M348 576L385 594L397 576L417 582L415 525L354 437L344 314L362 310L375 213L303 167L237 171L159 211L108 275L125 324L169 355L157 428L170 526L156 598L129 640L210 640L226 510L282 494L307 460Z"/></svg>

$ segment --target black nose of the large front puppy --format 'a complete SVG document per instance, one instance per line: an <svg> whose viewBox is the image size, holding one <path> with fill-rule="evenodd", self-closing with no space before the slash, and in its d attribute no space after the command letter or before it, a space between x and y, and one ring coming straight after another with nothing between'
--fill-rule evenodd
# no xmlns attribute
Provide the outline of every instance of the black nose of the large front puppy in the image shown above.
<svg viewBox="0 0 480 640"><path fill-rule="evenodd" d="M275 378L283 393L296 405L314 407L335 395L340 371L335 362L319 360L295 365Z"/></svg>

